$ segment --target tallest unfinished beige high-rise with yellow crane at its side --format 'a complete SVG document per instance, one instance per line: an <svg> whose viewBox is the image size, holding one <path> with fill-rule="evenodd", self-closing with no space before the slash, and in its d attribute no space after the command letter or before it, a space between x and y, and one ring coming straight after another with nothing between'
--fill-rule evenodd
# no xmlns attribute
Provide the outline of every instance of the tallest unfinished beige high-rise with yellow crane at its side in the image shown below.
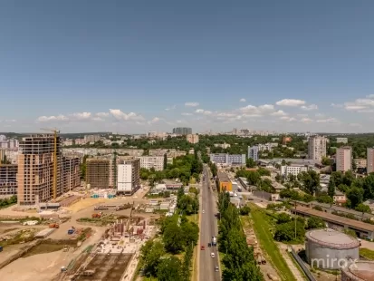
<svg viewBox="0 0 374 281"><path fill-rule="evenodd" d="M53 135L32 135L20 141L17 172L19 205L35 205L53 199L54 161L57 161L56 196L60 196L63 193L60 137L57 137L56 159Z"/></svg>

